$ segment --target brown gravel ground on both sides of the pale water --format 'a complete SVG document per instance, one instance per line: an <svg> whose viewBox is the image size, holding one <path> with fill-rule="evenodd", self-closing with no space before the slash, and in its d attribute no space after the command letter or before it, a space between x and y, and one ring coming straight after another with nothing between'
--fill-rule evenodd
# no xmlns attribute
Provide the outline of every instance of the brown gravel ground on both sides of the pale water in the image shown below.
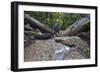
<svg viewBox="0 0 100 73"><path fill-rule="evenodd" d="M34 41L34 40L33 40ZM57 60L55 51L64 45L56 43L54 39L35 40L31 45L24 48L24 61L50 61ZM86 59L82 51L73 47L68 53L64 53L63 60Z"/></svg>

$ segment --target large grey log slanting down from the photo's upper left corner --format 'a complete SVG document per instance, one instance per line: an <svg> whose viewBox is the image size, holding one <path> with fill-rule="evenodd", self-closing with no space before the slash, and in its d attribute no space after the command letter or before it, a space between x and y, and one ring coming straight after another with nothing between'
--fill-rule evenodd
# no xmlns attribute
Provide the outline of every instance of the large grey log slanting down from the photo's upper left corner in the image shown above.
<svg viewBox="0 0 100 73"><path fill-rule="evenodd" d="M41 22L39 22L35 18L30 17L29 15L24 15L24 22L30 24L30 26L32 28L39 29L41 32L51 33L51 34L54 34L55 33L54 30L52 30L51 28L49 28L45 24L42 24Z"/></svg>

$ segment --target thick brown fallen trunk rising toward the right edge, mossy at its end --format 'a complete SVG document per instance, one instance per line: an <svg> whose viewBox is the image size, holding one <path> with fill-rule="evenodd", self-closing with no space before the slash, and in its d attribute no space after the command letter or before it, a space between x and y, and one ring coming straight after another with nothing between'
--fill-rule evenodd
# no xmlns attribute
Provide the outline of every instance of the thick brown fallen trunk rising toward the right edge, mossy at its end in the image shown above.
<svg viewBox="0 0 100 73"><path fill-rule="evenodd" d="M69 26L66 30L59 32L58 36L75 36L86 30L90 30L90 20L88 18L82 18Z"/></svg>

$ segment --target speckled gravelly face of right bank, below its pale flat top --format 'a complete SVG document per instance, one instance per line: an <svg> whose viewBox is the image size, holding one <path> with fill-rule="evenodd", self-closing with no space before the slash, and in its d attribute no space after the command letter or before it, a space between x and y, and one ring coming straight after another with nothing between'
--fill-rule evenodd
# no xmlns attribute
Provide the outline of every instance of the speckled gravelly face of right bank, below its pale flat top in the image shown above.
<svg viewBox="0 0 100 73"><path fill-rule="evenodd" d="M82 52L84 52L87 58L90 57L90 46L82 39L81 40L69 39L63 41L62 44L65 44L67 46L74 46L75 48L80 49Z"/></svg>

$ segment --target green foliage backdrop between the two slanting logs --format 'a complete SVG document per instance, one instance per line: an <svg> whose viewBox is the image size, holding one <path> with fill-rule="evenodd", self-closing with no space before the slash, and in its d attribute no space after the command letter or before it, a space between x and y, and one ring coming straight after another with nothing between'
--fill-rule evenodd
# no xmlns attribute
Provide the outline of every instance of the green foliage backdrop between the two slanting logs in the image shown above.
<svg viewBox="0 0 100 73"><path fill-rule="evenodd" d="M41 23L44 23L50 27L52 26L52 24L56 22L60 23L63 29L66 29L68 26L73 24L80 17L80 14L62 13L62 12L25 11L25 14L34 17L35 19L39 20Z"/></svg>

